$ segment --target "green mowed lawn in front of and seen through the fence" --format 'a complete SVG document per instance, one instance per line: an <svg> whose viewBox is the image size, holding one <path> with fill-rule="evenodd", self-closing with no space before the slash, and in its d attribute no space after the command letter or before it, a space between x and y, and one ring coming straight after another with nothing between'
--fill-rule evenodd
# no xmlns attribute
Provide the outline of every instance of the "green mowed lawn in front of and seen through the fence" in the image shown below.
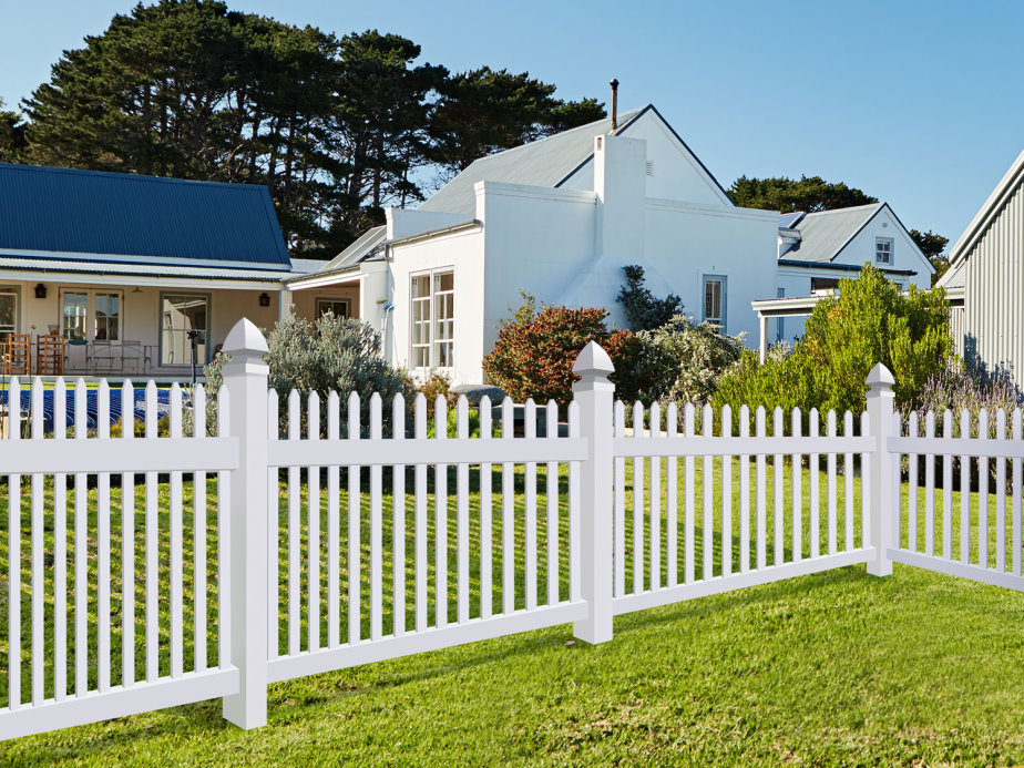
<svg viewBox="0 0 1024 768"><path fill-rule="evenodd" d="M626 462L627 485L633 482L633 462ZM695 546L697 576L704 564L703 539L703 462L696 460L694 508L697 542ZM822 463L823 465L823 463ZM841 461L840 461L841 465ZM665 469L662 490L665 490ZM537 552L539 603L546 602L546 498L543 467L539 469ZM430 483L433 488L433 471ZM713 573L720 573L721 546L721 468L715 461L711 474L711 498L716 513L711 523L714 549ZM792 499L791 468L784 471L782 542L785 559L791 556L790 503ZM495 471L493 485L492 537L495 543L493 606L503 601L501 591L502 510L496 498L501 474ZM751 487L755 464L750 464ZM342 489L345 473L342 472ZM566 478L559 478L560 514L560 596L567 595L565 573ZM475 491L477 471L470 475ZM515 597L524 604L523 536L524 473L515 475L514 539L516 557ZM649 473L647 475L649 481ZM682 533L685 514L685 462L677 462L679 490L678 520ZM447 515L449 616L455 617L454 539L457 532L455 473L448 475L452 494ZM766 561L774 562L776 498L771 461L766 467ZM141 484L141 483L140 483ZM383 473L386 491L390 478ZM809 552L810 502L809 477L801 472L802 536L801 549ZM860 536L860 481L853 478L851 520L854 537ZM167 484L157 488L161 504L161 549L158 563L162 585L166 584L170 564L167 549ZM363 484L363 490L368 484ZM411 603L414 596L414 547L411 500L413 478L407 479L410 498L406 504L406 595L407 626L414 625ZM733 503L730 554L734 571L739 563L739 473L733 462ZM4 489L7 490L7 489ZM321 598L326 598L326 482L320 483L319 511ZM279 651L287 649L288 627L288 541L289 505L287 484L279 487L281 586L279 598L283 613L279 621ZM136 567L144 556L143 489L136 489L135 547ZM52 494L52 484L45 493ZM827 551L828 484L819 474L821 551ZM837 543L843 549L846 521L846 482L838 479ZM907 506L908 487L903 487ZM752 489L751 489L752 494ZM22 491L29 496L29 490ZM72 494L69 494L72 495ZM88 492L90 510L90 584L95 580L95 495ZM960 494L953 492L953 542L959 544ZM207 483L211 501L207 551L211 555L208 583L216 571L216 526L213 500L216 488ZM649 501L649 485L643 493ZM977 516L977 494L972 494L972 519ZM752 495L750 496L752 500ZM919 490L918 509L923 516L924 494ZM300 552L308 546L308 493L303 484L299 501ZM627 488L627 504L633 491ZM990 523L995 521L994 494L990 496ZM69 500L69 506L72 500ZM120 598L121 588L121 511L120 489L112 489L112 614L114 618L112 647L114 682L120 678ZM663 553L667 536L666 504L662 503ZM1007 504L1008 508L1008 504ZM360 588L362 595L361 626L369 634L366 595L369 588L368 494L360 498L362 531ZM941 492L935 502L936 521L941 524ZM471 578L470 611L479 613L479 493L470 494L469 539ZM191 483L185 483L184 559L185 594L191 606L194 574L194 536L192 531ZM7 562L8 516L0 506L0 559ZM386 496L381 518L382 575L385 582L383 631L392 621L391 592L393 547L391 524L395 510ZM429 575L434 578L433 525L436 511L428 508ZM348 496L339 493L339 529L342 541L339 552L342 571L342 603L347 595L347 525ZM633 511L626 511L627 552L634 536ZM649 516L644 519L644 542L649 545ZM755 539L756 504L750 504L751 541ZM1008 525L1008 523L1007 523ZM22 513L21 557L23 564L22 637L30 637L30 601L28 598L29 564L31 562L28 506ZM905 525L904 525L905 537ZM1008 531L1008 528L1007 528ZM69 513L69 556L73 551L73 515ZM922 540L923 535L919 534ZM994 531L990 531L990 556L994 556ZM1007 541L1011 536L1007 534ZM941 531L936 542L942 541ZM972 550L976 552L976 539ZM49 550L50 543L47 547ZM684 542L678 540L682 557ZM750 562L756 563L751 546ZM632 555L631 555L632 556ZM305 562L304 557L300 561ZM665 557L662 556L664 564ZM632 591L633 562L627 557L626 584ZM682 574L682 566L680 566ZM135 595L144 603L145 584L141 571L136 574ZM663 567L667 575L667 565ZM649 571L644 572L649 583ZM69 588L73 590L73 571L69 569ZM7 573L2 574L0 602L0 637L7 641ZM300 647L308 643L308 565L304 564L296 585L299 611ZM163 586L161 587L164 588ZM95 600L90 591L91 622ZM433 588L428 616L434 619ZM52 603L52 586L47 591ZM321 602L321 606L322 606ZM211 637L209 662L216 662L216 594L209 590L207 623ZM73 603L69 600L69 607ZM346 638L347 615L340 613L340 636ZM321 608L321 611L324 611ZM49 612L48 612L49 615ZM0 761L10 765L481 765L481 764L658 764L658 765L877 765L877 764L955 764L1008 765L1024 761L1024 695L1022 676L1013 670L1024 661L1024 601L1012 591L971 583L925 571L895 566L890 578L868 576L864 567L850 566L828 573L799 577L760 587L699 598L664 608L627 614L615 619L615 638L601 646L572 642L570 626L553 627L512 637L488 641L455 648L421 654L365 667L345 669L314 677L272 685L269 689L269 724L254 731L240 731L221 718L219 702L176 707L158 713L135 715L92 726L65 729L0 744ZM186 669L194 657L190 637L193 622L191 607L185 611ZM320 616L320 643L326 643L326 614ZM166 674L168 617L166 596L161 600L161 669ZM73 615L69 616L69 627ZM93 631L94 633L94 631ZM136 673L144 669L144 624L136 613ZM69 645L73 637L69 637ZM8 663L7 646L0 643L0 659ZM50 651L48 649L48 656ZM94 666L95 635L91 641ZM28 659L28 655L25 655ZM30 676L28 661L23 663L22 692L28 700ZM48 670L48 678L50 677ZM7 668L0 669L6 686ZM69 682L73 682L73 669ZM95 674L92 678L94 680ZM7 692L2 692L6 703Z"/></svg>

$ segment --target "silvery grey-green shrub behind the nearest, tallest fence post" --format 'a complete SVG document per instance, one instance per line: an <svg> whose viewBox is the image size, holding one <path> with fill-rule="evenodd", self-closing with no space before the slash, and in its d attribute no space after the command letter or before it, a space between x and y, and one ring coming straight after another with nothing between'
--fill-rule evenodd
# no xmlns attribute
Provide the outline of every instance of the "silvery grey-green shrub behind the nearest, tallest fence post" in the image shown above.
<svg viewBox="0 0 1024 768"><path fill-rule="evenodd" d="M270 367L269 386L279 396L279 429L287 430L288 395L297 390L303 401L303 433L306 433L306 398L318 392L320 433L327 432L327 396L335 390L341 397L341 418L346 419L350 392L360 397L360 424L367 431L370 396L380 392L386 424L390 422L391 398L402 393L409 399L401 371L389 366L380 356L380 334L359 320L321 315L315 322L300 318L293 308L290 317L279 320L267 334L269 351L264 358ZM223 366L231 357L221 352L206 366L207 387L216 392L224 381ZM208 399L213 406L213 398ZM207 422L214 413L207 408Z"/></svg>

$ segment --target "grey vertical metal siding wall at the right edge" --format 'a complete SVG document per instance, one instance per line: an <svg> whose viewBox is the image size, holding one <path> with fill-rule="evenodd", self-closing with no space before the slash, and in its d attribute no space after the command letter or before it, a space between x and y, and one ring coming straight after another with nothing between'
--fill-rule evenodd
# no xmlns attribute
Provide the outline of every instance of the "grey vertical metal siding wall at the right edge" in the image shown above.
<svg viewBox="0 0 1024 768"><path fill-rule="evenodd" d="M990 371L1008 369L1024 388L1022 279L1024 192L1018 186L967 255L963 330L974 337L980 362Z"/></svg>

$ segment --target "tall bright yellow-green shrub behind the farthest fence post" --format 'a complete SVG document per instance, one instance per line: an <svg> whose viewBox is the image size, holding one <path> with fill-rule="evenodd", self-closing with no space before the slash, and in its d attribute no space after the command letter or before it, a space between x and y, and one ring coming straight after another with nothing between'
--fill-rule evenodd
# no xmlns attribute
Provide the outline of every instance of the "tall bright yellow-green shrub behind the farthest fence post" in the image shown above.
<svg viewBox="0 0 1024 768"><path fill-rule="evenodd" d="M892 371L898 407L907 407L932 371L952 358L949 305L939 290L903 296L881 272L864 265L839 295L822 298L792 354L757 365L745 356L720 382L717 406L744 403L784 410L799 407L860 412L868 373L877 362Z"/></svg>

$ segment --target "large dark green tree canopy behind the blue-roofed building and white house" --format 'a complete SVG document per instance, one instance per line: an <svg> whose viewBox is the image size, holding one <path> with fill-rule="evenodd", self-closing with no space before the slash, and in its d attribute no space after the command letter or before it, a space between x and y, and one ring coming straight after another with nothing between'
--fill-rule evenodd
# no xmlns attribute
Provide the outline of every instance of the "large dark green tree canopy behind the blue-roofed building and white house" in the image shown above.
<svg viewBox="0 0 1024 768"><path fill-rule="evenodd" d="M265 184L294 254L327 256L477 156L600 119L593 99L483 66L451 73L413 41L338 37L221 0L158 0L64 51L0 111L0 158Z"/></svg>

